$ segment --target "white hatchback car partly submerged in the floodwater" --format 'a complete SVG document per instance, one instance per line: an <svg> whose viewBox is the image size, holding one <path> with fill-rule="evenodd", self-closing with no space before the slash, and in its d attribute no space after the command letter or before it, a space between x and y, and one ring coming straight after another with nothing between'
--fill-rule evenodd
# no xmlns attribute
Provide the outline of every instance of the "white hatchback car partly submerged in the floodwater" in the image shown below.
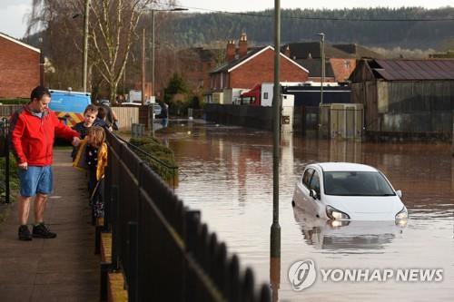
<svg viewBox="0 0 454 302"><path fill-rule="evenodd" d="M321 219L398 221L408 219L401 197L380 170L358 163L321 162L306 167L292 205Z"/></svg>

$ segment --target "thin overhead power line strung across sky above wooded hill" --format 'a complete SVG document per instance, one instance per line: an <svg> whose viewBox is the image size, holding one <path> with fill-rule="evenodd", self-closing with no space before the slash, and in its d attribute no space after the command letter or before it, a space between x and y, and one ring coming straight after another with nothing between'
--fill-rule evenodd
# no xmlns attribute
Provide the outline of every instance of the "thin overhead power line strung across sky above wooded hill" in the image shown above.
<svg viewBox="0 0 454 302"><path fill-rule="evenodd" d="M163 2L156 1L158 5L168 5ZM258 14L258 13L242 13L242 12L227 12L227 11L220 11L214 10L210 8L202 8L202 7L192 7L192 6L185 6L185 5L173 5L174 7L181 7L186 9L193 9L198 11L205 11L211 13L218 13L218 14L225 14L225 15L243 15L243 16L255 16L255 17L262 17L262 18L272 18L273 15L265 15L265 14ZM314 20L314 21L348 21L348 22L446 22L446 21L454 21L454 17L450 18L417 18L417 19L392 19L392 18L335 18L335 17L310 17L310 16L291 16L291 15L282 15L282 19L297 19L297 20Z"/></svg>

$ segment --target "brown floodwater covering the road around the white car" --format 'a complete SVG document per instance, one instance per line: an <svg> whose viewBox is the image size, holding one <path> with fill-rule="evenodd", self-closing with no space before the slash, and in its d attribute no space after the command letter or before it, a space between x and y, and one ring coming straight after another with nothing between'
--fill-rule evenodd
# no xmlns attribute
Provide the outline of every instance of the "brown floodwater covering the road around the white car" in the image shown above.
<svg viewBox="0 0 454 302"><path fill-rule="evenodd" d="M454 298L454 158L449 144L328 141L283 135L280 165L281 259L270 265L272 222L272 136L240 127L173 123L157 135L180 166L176 193L242 265L256 283L270 283L279 301L452 301ZM291 207L295 182L315 161L370 164L402 190L410 212L406 226L355 223L333 227ZM311 259L315 283L294 291L288 270ZM280 263L280 271L279 271ZM320 269L442 269L439 282L323 281ZM339 272L338 272L339 273ZM270 277L271 276L271 277ZM338 274L337 277L340 275Z"/></svg>

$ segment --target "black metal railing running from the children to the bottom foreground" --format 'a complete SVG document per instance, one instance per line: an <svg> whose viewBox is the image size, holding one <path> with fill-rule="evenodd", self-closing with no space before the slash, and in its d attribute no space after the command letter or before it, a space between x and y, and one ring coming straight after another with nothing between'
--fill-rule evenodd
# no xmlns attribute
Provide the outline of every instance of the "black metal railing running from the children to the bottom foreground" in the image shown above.
<svg viewBox="0 0 454 302"><path fill-rule="evenodd" d="M271 301L224 243L124 141L107 133L104 229L110 269L123 271L130 301Z"/></svg>

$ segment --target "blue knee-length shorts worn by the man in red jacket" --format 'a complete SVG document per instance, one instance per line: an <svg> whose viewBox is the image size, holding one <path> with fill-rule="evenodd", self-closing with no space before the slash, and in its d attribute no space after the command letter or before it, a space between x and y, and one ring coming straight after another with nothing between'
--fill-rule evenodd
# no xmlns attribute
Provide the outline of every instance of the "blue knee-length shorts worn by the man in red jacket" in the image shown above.
<svg viewBox="0 0 454 302"><path fill-rule="evenodd" d="M50 194L52 192L51 166L28 166L27 170L19 169L20 193L23 197L35 196L36 193Z"/></svg>

